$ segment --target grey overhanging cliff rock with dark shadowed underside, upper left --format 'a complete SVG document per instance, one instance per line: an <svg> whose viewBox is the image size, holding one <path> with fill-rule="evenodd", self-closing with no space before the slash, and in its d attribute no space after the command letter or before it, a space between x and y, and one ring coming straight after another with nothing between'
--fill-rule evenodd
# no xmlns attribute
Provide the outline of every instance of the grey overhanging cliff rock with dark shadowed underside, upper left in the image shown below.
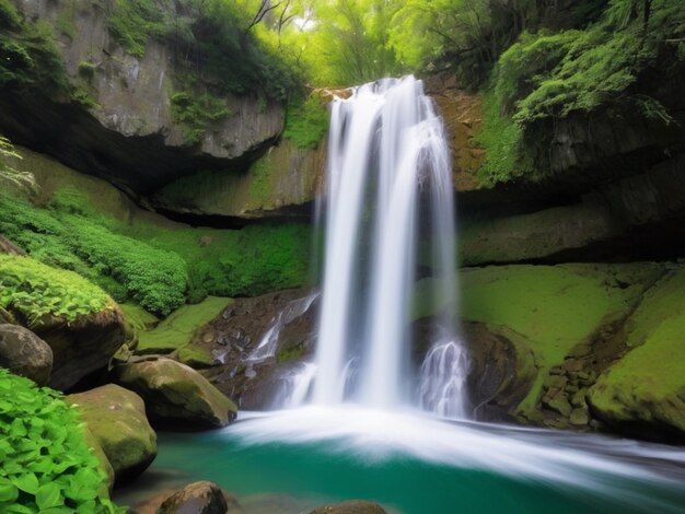
<svg viewBox="0 0 685 514"><path fill-rule="evenodd" d="M172 95L186 92L178 77L188 70L170 47L151 39L142 57L126 54L98 4L28 0L20 7L28 19L78 27L71 37L58 34L58 48L70 81L88 91L92 105L59 102L51 92L3 95L0 130L14 142L148 192L197 170L244 168L282 131L280 105L265 105L256 94L225 95L221 102L231 115L208 125L198 144L188 144L171 114Z"/></svg>

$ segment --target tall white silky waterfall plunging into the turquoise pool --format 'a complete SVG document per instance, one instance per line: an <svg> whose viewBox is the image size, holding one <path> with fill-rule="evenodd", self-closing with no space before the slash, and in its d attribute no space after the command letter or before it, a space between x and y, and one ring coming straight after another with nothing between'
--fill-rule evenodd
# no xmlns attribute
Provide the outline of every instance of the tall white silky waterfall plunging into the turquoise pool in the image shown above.
<svg viewBox="0 0 685 514"><path fill-rule="evenodd" d="M328 144L313 400L353 399L381 409L414 400L443 416L463 416L450 154L421 81L384 79L336 98ZM430 256L433 277L427 301L443 314L442 336L427 359L441 357L421 366L422 375L432 370L439 376L422 376L421 390L413 393L410 320L419 247Z"/></svg>

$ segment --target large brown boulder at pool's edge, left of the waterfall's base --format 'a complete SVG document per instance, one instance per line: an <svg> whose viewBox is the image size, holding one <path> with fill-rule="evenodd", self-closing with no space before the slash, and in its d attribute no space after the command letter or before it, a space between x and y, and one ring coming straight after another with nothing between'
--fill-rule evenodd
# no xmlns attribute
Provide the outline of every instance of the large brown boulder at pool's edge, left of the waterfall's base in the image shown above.
<svg viewBox="0 0 685 514"><path fill-rule="evenodd" d="M171 359L121 364L116 382L138 393L150 417L161 423L187 428L225 427L235 419L235 405L191 367Z"/></svg>

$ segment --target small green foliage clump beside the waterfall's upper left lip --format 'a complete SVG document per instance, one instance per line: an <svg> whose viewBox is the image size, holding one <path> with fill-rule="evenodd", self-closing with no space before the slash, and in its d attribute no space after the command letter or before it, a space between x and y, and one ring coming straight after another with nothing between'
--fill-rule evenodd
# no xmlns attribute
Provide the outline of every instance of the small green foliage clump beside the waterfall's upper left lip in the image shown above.
<svg viewBox="0 0 685 514"><path fill-rule="evenodd" d="M311 95L288 105L283 138L298 148L316 147L328 131L329 113L321 98Z"/></svg>

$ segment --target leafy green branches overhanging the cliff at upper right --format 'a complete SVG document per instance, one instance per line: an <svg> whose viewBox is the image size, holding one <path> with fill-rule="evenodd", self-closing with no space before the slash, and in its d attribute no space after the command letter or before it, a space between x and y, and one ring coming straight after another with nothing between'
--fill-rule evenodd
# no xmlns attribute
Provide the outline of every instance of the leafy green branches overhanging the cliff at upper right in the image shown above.
<svg viewBox="0 0 685 514"><path fill-rule="evenodd" d="M666 42L685 33L685 11L680 0L652 1L647 17L642 8L613 0L602 20L583 31L524 33L499 59L498 100L521 126L626 100L670 121L663 106L634 85L658 63Z"/></svg>

